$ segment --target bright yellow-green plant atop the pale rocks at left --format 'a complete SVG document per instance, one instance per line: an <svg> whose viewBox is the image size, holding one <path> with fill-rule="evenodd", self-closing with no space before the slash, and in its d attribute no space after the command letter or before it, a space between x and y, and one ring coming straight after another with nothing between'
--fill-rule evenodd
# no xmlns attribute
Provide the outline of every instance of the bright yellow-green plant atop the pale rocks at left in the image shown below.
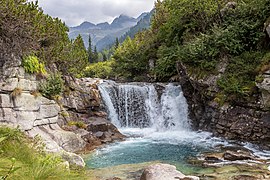
<svg viewBox="0 0 270 180"><path fill-rule="evenodd" d="M22 66L27 73L46 74L44 63L40 63L36 56L26 56L23 58Z"/></svg>

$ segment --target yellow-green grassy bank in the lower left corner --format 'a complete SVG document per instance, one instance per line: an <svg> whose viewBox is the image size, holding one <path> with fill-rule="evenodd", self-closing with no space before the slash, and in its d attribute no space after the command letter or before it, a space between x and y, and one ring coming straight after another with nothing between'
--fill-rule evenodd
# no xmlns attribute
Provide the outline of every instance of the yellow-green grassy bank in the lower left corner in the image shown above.
<svg viewBox="0 0 270 180"><path fill-rule="evenodd" d="M0 127L0 179L86 179L85 171L67 168L61 157L47 154L38 138Z"/></svg>

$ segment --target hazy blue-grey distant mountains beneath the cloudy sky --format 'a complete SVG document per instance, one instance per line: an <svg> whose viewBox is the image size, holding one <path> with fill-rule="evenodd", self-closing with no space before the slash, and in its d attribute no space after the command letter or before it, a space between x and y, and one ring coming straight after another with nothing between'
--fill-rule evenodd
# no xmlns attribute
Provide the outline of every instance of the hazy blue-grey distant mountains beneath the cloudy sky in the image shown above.
<svg viewBox="0 0 270 180"><path fill-rule="evenodd" d="M142 13L138 18L122 14L115 18L111 24L104 22L95 25L90 22L83 22L79 26L69 28L69 38L75 39L80 34L84 40L85 47L88 48L88 36L90 34L92 45L97 46L97 50L101 51L112 45L117 37L120 38L124 36L132 27L138 26L138 23L141 21L147 21L143 19L145 19L148 14L149 13ZM149 25L150 21L148 26Z"/></svg>

